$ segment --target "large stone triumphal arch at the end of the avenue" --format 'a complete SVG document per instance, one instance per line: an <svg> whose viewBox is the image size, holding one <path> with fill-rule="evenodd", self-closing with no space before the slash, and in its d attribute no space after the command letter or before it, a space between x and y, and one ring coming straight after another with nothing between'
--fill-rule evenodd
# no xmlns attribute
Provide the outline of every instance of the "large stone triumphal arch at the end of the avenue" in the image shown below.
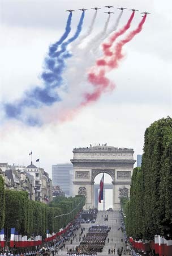
<svg viewBox="0 0 172 256"><path fill-rule="evenodd" d="M74 148L74 195L85 195L85 208L94 207L94 178L105 172L113 184L113 209L120 209L119 196L129 193L134 167L134 150L107 145ZM128 195L129 196L129 195Z"/></svg>

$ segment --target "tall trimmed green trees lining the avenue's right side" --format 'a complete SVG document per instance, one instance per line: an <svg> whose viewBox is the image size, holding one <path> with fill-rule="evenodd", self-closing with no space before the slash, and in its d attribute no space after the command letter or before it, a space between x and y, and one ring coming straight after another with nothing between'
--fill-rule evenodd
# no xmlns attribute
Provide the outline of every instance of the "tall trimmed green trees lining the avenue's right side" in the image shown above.
<svg viewBox="0 0 172 256"><path fill-rule="evenodd" d="M127 234L172 239L172 119L162 118L145 131L141 168L132 175L127 204Z"/></svg>

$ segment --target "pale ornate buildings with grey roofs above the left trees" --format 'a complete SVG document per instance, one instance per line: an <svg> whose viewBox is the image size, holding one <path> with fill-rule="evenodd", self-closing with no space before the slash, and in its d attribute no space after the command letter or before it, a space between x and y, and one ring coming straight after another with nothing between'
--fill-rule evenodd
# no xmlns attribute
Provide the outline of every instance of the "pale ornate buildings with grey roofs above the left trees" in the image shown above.
<svg viewBox="0 0 172 256"><path fill-rule="evenodd" d="M34 164L29 166L9 166L0 163L0 175L5 180L5 188L16 191L27 191L33 201L48 204L52 201L52 183L47 172Z"/></svg>

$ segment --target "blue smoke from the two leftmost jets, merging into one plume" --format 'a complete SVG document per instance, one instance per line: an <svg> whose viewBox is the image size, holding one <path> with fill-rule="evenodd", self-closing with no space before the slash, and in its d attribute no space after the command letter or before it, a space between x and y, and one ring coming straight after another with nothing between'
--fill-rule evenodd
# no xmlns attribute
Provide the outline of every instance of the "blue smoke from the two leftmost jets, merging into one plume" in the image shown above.
<svg viewBox="0 0 172 256"><path fill-rule="evenodd" d="M67 46L80 35L83 26L84 12L81 14L81 18L79 20L79 24L75 32L75 35L72 36L72 38L70 38L69 40L67 40L67 42L62 43L71 31L71 16L72 15L70 13L67 20L66 31L61 37L61 39L59 39L57 43L53 44L53 46L49 48L49 56L51 56L51 58L46 59L45 61L47 68L49 68L51 72L42 73L41 77L45 82L44 88L36 86L31 91L25 92L23 99L16 102L15 104L4 104L5 113L8 118L19 119L20 121L23 121L29 126L40 126L42 123L38 118L36 119L31 116L27 118L23 117L24 109L38 109L44 105L50 106L54 102L61 101L57 92L55 92L54 88L57 88L63 82L62 73L65 69L65 59L71 56L70 53L67 52ZM61 51L55 52L58 46L61 46ZM64 54L61 57L59 57L62 53ZM55 63L54 57L57 61L57 64Z"/></svg>

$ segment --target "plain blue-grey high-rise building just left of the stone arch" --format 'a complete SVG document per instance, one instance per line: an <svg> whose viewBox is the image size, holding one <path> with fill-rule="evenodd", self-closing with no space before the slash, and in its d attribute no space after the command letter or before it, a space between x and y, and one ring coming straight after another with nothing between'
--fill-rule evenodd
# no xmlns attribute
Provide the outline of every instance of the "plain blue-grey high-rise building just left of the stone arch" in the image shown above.
<svg viewBox="0 0 172 256"><path fill-rule="evenodd" d="M52 182L53 186L59 186L66 196L72 194L72 175L73 165L71 163L66 164L54 164L52 166Z"/></svg>

